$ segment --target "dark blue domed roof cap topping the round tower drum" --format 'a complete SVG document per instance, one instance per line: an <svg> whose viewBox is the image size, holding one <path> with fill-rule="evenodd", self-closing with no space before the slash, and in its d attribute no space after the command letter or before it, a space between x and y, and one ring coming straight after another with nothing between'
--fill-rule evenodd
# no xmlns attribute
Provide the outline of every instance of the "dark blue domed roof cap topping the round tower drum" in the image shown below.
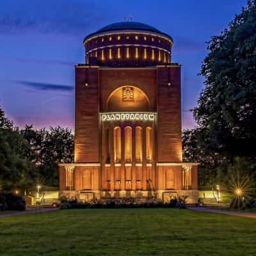
<svg viewBox="0 0 256 256"><path fill-rule="evenodd" d="M99 33L104 33L104 32L108 32L108 31L115 31L115 30L142 30L142 31L150 31L150 32L154 32L154 33L158 33L158 34L162 34L164 36L167 36L168 38L170 38L170 40L173 41L172 36L163 33L161 31L159 31L158 29L149 26L147 24L141 23L141 22L134 22L134 21L124 21L124 22L116 22L113 24L110 24L108 26L105 26L101 29L99 29L98 31L86 36L84 38L84 41L89 38L90 36L93 35L97 35Z"/></svg>

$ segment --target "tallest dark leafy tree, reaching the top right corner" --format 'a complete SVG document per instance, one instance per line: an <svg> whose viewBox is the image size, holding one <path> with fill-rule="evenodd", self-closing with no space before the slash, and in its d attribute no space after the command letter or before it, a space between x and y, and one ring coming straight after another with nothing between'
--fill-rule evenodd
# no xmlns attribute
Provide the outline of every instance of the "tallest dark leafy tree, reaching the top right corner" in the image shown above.
<svg viewBox="0 0 256 256"><path fill-rule="evenodd" d="M213 150L228 156L255 156L256 1L209 42L202 65L205 89L193 111Z"/></svg>

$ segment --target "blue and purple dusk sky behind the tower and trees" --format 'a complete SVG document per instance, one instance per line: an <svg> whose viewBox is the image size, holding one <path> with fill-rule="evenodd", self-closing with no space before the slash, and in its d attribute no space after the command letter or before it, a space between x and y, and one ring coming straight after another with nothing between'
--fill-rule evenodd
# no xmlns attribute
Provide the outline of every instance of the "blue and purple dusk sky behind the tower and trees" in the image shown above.
<svg viewBox="0 0 256 256"><path fill-rule="evenodd" d="M0 106L20 128L74 129L74 65L84 36L113 22L154 26L173 37L182 65L182 128L204 88L198 76L211 36L220 35L246 0L3 0L0 9Z"/></svg>

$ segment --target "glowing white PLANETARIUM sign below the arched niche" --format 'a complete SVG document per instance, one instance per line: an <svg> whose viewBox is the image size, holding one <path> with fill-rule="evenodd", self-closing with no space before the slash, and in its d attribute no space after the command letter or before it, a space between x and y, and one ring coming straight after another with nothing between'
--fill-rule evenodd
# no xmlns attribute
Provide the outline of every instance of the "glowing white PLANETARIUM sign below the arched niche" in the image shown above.
<svg viewBox="0 0 256 256"><path fill-rule="evenodd" d="M140 112L120 112L120 113L100 113L101 120L104 121L154 121L156 113Z"/></svg>

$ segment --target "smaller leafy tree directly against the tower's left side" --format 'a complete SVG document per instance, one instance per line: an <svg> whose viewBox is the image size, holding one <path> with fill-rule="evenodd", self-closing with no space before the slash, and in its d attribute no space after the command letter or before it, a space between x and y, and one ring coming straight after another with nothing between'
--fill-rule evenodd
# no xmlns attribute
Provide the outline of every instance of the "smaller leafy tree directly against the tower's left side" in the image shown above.
<svg viewBox="0 0 256 256"><path fill-rule="evenodd" d="M29 143L26 156L35 169L35 182L48 186L58 186L58 164L74 161L74 136L70 129L50 127L33 129L26 125L22 130Z"/></svg>

